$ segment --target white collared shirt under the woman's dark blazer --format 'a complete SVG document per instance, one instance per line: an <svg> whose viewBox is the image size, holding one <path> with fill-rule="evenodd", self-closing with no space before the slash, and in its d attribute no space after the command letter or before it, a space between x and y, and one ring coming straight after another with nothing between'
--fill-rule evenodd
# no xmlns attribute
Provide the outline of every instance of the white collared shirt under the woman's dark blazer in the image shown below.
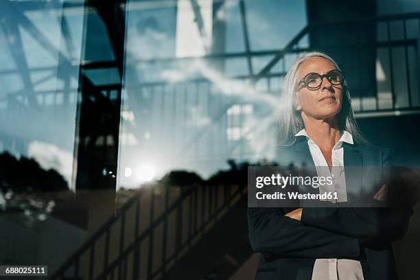
<svg viewBox="0 0 420 280"><path fill-rule="evenodd" d="M353 145L353 137L347 131L342 131L340 140L334 145L332 150L331 159L332 167L329 170L327 161L323 153L316 143L307 135L306 130L303 129L296 133L294 136L305 136L307 145L310 148L312 160L316 167L318 176L331 176L333 184L320 185L320 194L324 192L337 192L337 199L327 200L332 203L346 202L347 189L346 178L344 170L344 148L342 143L346 142ZM363 272L360 261L353 259L316 259L314 270L312 272L312 280L363 280Z"/></svg>

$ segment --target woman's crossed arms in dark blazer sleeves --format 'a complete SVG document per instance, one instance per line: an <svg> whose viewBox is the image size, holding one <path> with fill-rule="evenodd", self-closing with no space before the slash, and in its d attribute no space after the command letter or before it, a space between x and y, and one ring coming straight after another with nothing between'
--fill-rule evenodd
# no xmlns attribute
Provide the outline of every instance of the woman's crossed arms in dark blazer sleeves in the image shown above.
<svg viewBox="0 0 420 280"><path fill-rule="evenodd" d="M353 258L360 242L401 238L410 215L410 208L249 208L250 244L264 255Z"/></svg>

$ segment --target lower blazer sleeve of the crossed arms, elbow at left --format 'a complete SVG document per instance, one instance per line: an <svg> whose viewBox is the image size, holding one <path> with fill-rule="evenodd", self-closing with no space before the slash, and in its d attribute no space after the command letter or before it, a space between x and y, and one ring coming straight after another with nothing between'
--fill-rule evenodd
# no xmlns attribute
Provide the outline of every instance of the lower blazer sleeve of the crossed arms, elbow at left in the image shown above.
<svg viewBox="0 0 420 280"><path fill-rule="evenodd" d="M255 252L282 257L358 257L359 241L288 218L281 208L248 208L250 245Z"/></svg>

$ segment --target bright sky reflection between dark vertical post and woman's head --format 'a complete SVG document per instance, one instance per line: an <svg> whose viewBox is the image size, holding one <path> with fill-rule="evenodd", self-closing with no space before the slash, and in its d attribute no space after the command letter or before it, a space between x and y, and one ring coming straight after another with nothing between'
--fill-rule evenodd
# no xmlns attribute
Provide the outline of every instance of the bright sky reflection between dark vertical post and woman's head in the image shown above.
<svg viewBox="0 0 420 280"><path fill-rule="evenodd" d="M167 3L127 5L119 187L139 187L139 166L156 178L170 170L206 177L228 159L268 156L285 63L255 86L251 75L305 25L304 1ZM288 28L273 24L285 18Z"/></svg>

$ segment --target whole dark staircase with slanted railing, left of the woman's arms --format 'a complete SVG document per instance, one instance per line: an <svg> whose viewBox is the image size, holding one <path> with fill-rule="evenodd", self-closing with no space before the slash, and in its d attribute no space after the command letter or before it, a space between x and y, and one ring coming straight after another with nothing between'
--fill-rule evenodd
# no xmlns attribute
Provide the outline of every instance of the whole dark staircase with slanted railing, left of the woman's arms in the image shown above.
<svg viewBox="0 0 420 280"><path fill-rule="evenodd" d="M149 185L128 200L50 278L229 276L252 253L246 231L246 193L244 185ZM221 252L224 248L229 250ZM197 259L198 255L205 255L205 261Z"/></svg>

